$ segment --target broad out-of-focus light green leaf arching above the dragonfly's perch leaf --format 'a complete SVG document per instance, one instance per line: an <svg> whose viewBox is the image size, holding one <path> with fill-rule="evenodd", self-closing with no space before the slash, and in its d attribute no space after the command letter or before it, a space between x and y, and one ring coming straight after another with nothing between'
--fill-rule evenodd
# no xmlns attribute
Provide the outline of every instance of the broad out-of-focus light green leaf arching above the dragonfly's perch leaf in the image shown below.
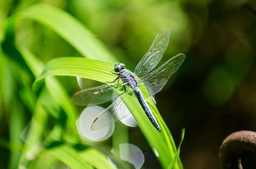
<svg viewBox="0 0 256 169"><path fill-rule="evenodd" d="M77 49L84 57L115 63L108 48L91 31L65 11L47 4L36 4L19 13L21 18L35 20L49 27Z"/></svg>

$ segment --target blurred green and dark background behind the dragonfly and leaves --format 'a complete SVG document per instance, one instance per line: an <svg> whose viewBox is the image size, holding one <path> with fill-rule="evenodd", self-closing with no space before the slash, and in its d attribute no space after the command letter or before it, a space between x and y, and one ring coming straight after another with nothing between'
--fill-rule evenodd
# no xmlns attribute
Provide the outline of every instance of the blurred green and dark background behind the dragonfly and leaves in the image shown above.
<svg viewBox="0 0 256 169"><path fill-rule="evenodd" d="M147 52L158 31L170 29L170 43L160 64L178 53L186 54L186 60L156 101L175 143L179 143L180 130L186 128L180 152L184 168L218 168L218 149L225 136L241 129L256 131L255 1L5 0L0 1L1 41L6 18L36 3L51 4L77 18L129 70ZM16 28L16 43L45 63L54 57L81 56L37 22L22 20ZM0 135L7 145L4 140L19 136L15 133L22 133L31 120L29 105L13 97L33 101L26 91L32 90L35 79L20 73L19 65L3 52L8 48L3 47ZM70 96L79 89L75 78L60 80ZM93 85L90 82L88 87ZM15 108L20 112L18 121L12 119ZM140 130L129 130L129 140L144 146L144 168L159 167ZM0 147L0 168L12 168L9 155L8 149Z"/></svg>

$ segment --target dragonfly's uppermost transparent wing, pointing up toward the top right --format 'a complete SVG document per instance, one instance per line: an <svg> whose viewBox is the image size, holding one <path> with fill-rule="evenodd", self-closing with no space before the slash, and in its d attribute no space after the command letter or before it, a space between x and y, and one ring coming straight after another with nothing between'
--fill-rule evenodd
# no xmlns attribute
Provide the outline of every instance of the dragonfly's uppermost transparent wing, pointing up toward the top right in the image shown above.
<svg viewBox="0 0 256 169"><path fill-rule="evenodd" d="M168 46L169 39L169 29L163 29L157 34L148 52L142 57L134 70L134 73L138 77L143 77L147 75L147 73L149 73L156 67L156 65L163 57L164 51Z"/></svg>

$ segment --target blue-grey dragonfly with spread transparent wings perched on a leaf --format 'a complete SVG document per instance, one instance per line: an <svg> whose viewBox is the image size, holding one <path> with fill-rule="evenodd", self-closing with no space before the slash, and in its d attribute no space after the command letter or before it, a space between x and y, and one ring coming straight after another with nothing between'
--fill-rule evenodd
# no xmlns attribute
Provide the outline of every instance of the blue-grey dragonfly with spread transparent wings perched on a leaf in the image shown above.
<svg viewBox="0 0 256 169"><path fill-rule="evenodd" d="M125 69L125 64L117 62L112 71L117 77L113 82L106 82L103 85L92 87L89 89L82 89L76 92L72 96L72 102L76 105L88 106L88 105L100 105L108 101L112 101L112 104L108 108L100 112L96 119L92 122L91 129L97 130L108 126L109 124L124 119L131 114L125 103L120 98L120 95L116 94L113 89L113 85L117 80L115 87L117 88L119 80L122 80L122 86L124 92L128 89L132 89L134 96L138 99L141 108L143 108L149 121L152 125L161 132L161 127L155 115L150 110L146 99L140 89L140 84L145 85L148 93L154 98L157 92L161 91L168 82L168 79L172 77L173 73L177 71L185 59L184 54L177 54L164 64L155 69L159 61L161 61L163 54L168 47L170 40L170 30L162 29L157 34L155 40L150 46L147 53L138 62L133 72Z"/></svg>

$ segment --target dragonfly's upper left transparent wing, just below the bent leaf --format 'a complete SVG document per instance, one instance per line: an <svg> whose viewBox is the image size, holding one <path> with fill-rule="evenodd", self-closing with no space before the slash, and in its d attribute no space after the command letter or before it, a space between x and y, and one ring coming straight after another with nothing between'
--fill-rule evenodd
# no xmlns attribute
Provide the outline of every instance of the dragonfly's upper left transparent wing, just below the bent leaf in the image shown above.
<svg viewBox="0 0 256 169"><path fill-rule="evenodd" d="M113 89L111 85L104 84L98 87L83 89L76 92L71 98L75 105L99 105L111 101L113 97Z"/></svg>

